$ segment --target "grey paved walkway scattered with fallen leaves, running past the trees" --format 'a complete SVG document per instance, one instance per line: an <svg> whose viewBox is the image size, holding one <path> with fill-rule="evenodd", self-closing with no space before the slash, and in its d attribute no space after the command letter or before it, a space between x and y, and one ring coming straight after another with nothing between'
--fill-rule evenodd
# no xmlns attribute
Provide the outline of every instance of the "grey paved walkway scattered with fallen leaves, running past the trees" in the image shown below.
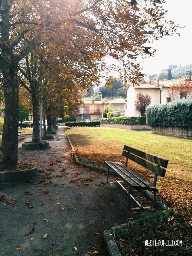
<svg viewBox="0 0 192 256"><path fill-rule="evenodd" d="M27 140L31 135L25 136ZM36 164L38 178L36 183L0 185L1 194L6 195L0 201L0 255L84 256L94 250L108 255L104 230L129 217L123 190L116 183L106 185L105 174L74 164L63 128L47 150L22 150L21 143L19 160ZM43 194L41 189L48 192ZM16 204L4 205L9 199ZM34 232L25 235L32 228Z"/></svg>

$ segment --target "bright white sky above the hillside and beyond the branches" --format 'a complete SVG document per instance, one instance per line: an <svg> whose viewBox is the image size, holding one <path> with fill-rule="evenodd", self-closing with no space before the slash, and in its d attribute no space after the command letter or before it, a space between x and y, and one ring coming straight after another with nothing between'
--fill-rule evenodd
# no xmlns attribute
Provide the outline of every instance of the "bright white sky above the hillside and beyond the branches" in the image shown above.
<svg viewBox="0 0 192 256"><path fill-rule="evenodd" d="M167 20L174 20L183 29L179 29L180 36L166 36L154 40L151 44L156 49L152 57L137 59L143 65L143 72L146 75L159 74L161 69L168 68L170 64L179 66L192 63L192 1L191 0L167 0L164 9L168 10ZM112 59L107 59L107 64ZM114 74L117 77L117 73Z"/></svg>

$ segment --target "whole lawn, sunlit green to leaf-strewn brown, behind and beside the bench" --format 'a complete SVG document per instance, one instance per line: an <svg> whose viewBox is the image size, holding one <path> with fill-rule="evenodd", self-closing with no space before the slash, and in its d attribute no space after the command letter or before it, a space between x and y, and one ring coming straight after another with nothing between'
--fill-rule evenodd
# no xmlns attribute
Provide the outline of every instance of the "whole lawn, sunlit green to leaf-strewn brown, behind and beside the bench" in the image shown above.
<svg viewBox="0 0 192 256"><path fill-rule="evenodd" d="M164 225L159 232L162 239L166 239L166 235L167 239L172 239L172 230L176 228L180 239L186 246L191 236L192 226L192 141L155 135L151 131L130 131L107 127L73 127L67 130L67 133L77 156L86 162L93 161L98 166L106 167L105 160L124 163L125 158L121 154L125 144L169 160L165 177L158 177L157 180L158 198L166 204L169 214L173 216L176 214L176 217L170 216L167 226ZM154 177L152 172L146 171L132 161L128 161L128 165L152 183ZM126 240L123 246L126 252ZM189 247L188 244L185 249ZM122 253L122 255L133 254Z"/></svg>

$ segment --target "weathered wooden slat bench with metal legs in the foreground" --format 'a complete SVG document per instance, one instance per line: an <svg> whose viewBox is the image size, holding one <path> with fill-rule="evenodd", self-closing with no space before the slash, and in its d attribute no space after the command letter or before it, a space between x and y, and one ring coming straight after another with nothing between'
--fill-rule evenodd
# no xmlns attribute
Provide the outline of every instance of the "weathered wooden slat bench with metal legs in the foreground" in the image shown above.
<svg viewBox="0 0 192 256"><path fill-rule="evenodd" d="M157 177L164 177L166 170L164 168L167 168L168 160L164 160L160 157L153 156L151 154L145 153L141 150L131 148L129 146L124 146L123 148L123 156L126 157L125 165L123 165L121 162L110 162L105 161L106 165L108 166L107 171L107 183L109 181L109 171L110 169L117 174L123 181L125 181L128 185L128 191L123 187L124 190L127 191L127 207L128 210L132 209L139 209L139 208L149 208L149 207L143 207L135 198L131 195L131 189L137 189L141 193L145 195L147 199L152 201L154 206L157 205L157 192L158 189L156 188L156 181ZM127 161L132 160L133 162L143 166L144 168L152 171L154 175L153 184L150 184L146 179L143 179L141 176L139 176L136 172L131 170L129 167L127 167ZM153 191L153 194L148 192ZM130 197L137 203L139 207L137 208L131 208L129 205Z"/></svg>

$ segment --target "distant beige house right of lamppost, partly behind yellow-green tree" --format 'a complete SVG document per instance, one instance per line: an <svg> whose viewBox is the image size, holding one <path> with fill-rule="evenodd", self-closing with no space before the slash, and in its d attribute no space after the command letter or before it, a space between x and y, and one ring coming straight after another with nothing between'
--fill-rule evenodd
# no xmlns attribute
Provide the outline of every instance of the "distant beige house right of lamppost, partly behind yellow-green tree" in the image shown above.
<svg viewBox="0 0 192 256"><path fill-rule="evenodd" d="M113 108L115 109L115 113L113 113L113 115L125 115L125 109L127 108L127 100L125 99L115 99L115 100L109 100L107 102L103 103L103 107L104 109L106 109L106 106L108 104L112 104Z"/></svg>

